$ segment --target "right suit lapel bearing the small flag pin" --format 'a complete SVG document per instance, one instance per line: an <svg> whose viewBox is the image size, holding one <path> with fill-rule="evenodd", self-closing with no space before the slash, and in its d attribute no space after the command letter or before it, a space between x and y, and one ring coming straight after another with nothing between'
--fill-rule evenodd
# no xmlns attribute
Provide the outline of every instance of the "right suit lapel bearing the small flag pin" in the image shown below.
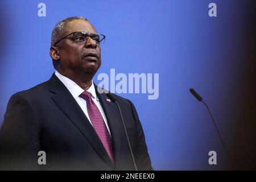
<svg viewBox="0 0 256 182"><path fill-rule="evenodd" d="M109 98L106 96L107 90L104 90L95 85L97 97L100 100L102 109L108 120L110 133L112 135L114 145L114 160L115 166L119 166L120 152L121 152L121 131L123 130L121 125L121 118L118 111L118 107L114 102L109 102Z"/></svg>

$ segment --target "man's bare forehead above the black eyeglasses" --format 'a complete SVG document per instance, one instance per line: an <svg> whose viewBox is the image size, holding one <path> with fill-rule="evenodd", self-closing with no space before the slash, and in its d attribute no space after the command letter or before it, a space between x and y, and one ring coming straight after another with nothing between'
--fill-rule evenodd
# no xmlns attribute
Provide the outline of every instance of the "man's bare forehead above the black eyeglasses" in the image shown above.
<svg viewBox="0 0 256 182"><path fill-rule="evenodd" d="M68 32L90 32L90 33L97 33L95 28L93 27L90 22L79 19L73 20L72 22L67 22L66 27Z"/></svg>

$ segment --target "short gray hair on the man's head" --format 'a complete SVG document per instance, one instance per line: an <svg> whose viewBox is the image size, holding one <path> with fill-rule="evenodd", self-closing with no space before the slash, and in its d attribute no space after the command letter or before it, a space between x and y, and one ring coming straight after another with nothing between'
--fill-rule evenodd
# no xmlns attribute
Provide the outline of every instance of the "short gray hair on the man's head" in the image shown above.
<svg viewBox="0 0 256 182"><path fill-rule="evenodd" d="M65 34L65 32L68 31L66 27L66 23L72 22L73 20L76 20L76 19L82 19L82 20L88 21L88 19L82 16L71 16L58 22L52 31L51 46L54 46L54 44L62 38L61 36L63 36L63 34Z"/></svg>

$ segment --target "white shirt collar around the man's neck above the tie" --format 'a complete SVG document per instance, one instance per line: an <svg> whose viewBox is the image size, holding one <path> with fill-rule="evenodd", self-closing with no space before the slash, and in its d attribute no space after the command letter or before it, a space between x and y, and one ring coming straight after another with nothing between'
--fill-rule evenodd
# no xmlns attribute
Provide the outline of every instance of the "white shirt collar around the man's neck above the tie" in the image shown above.
<svg viewBox="0 0 256 182"><path fill-rule="evenodd" d="M75 81L69 79L68 77L65 77L64 75L61 75L58 71L55 71L55 75L57 76L57 78L60 79L61 82L63 82L63 84L67 87L67 89L69 90L69 92L72 94L74 98L79 97L80 94L85 91L79 85L77 85ZM90 85L90 88L86 91L90 92L90 94L92 94L92 97L96 98L98 101L93 81L92 81L92 84Z"/></svg>

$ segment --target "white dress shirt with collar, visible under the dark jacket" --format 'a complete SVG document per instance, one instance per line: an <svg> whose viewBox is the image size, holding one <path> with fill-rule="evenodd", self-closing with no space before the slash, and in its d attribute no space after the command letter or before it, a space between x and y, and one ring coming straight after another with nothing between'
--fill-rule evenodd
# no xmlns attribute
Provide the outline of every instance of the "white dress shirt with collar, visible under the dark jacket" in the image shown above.
<svg viewBox="0 0 256 182"><path fill-rule="evenodd" d="M65 76L61 75L58 71L55 71L55 75L67 87L69 92L75 98L77 104L79 104L79 106L81 107L82 111L84 111L84 114L86 115L86 117L90 121L90 117L89 117L89 114L88 114L88 111L87 111L86 101L83 98L79 97L80 94L82 92L84 92L85 90L83 90L79 85L77 85L74 81L72 81L68 77L65 77ZM94 103L98 107L98 110L100 110L102 118L104 119L104 122L106 124L106 127L109 130L108 121L107 121L106 115L105 115L105 113L104 113L104 111L103 111L103 109L101 107L100 100L98 100L98 97L96 95L96 91L95 91L93 82L92 82L92 85L90 86L90 88L88 90L86 90L86 91L88 91L88 92L90 92L90 94L92 94L92 100L94 101ZM90 124L92 125L92 121L90 121ZM110 130L109 130L109 134L110 134Z"/></svg>

